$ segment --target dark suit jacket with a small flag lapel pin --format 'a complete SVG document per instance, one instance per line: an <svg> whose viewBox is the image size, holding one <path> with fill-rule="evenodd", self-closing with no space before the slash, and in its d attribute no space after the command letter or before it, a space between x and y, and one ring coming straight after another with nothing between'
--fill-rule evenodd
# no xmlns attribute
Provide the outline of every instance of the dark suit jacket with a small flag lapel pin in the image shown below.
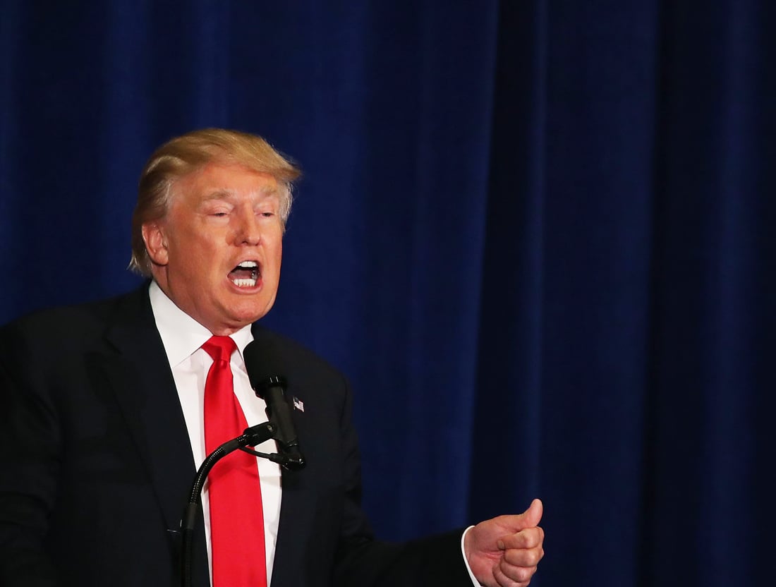
<svg viewBox="0 0 776 587"><path fill-rule="evenodd" d="M282 473L273 587L471 585L459 532L373 540L347 380L289 339L253 334L282 348L304 403L293 415L307 467ZM195 467L147 286L3 327L0 386L0 585L179 585ZM201 519L193 584L208 585Z"/></svg>

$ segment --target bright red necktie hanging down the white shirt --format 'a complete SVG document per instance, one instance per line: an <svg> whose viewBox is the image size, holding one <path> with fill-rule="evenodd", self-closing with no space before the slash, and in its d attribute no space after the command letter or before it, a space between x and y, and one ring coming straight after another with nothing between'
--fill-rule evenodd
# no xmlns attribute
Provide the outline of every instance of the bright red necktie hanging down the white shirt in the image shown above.
<svg viewBox="0 0 776 587"><path fill-rule="evenodd" d="M237 346L213 336L202 346L213 357L205 381L205 448L208 454L248 427L234 395L230 357ZM235 450L217 462L210 484L213 587L266 587L262 491L256 457Z"/></svg>

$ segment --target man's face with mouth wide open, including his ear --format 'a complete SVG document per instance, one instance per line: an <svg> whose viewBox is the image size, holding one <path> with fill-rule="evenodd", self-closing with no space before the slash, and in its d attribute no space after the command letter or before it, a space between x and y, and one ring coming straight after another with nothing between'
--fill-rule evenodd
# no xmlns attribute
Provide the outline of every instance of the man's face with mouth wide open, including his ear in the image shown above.
<svg viewBox="0 0 776 587"><path fill-rule="evenodd" d="M159 286L213 334L239 330L275 302L279 189L271 175L210 163L175 182L167 215L143 227Z"/></svg>

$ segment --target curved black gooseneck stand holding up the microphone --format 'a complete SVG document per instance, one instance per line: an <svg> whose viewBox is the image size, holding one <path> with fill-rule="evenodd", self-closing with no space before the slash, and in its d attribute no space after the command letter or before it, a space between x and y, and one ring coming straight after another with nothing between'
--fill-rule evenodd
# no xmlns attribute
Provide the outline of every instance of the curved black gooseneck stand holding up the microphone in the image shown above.
<svg viewBox="0 0 776 587"><path fill-rule="evenodd" d="M269 422L258 424L246 428L241 436L237 438L227 440L216 450L213 450L205 460L203 464L199 466L199 470L196 472L194 482L192 483L192 490L189 494L189 503L183 512L183 519L181 520L182 531L182 552L181 552L181 580L183 587L191 587L192 584L192 544L194 525L196 523L197 512L199 512L199 502L202 498L202 488L205 485L205 479L207 474L210 473L210 469L213 468L219 460L226 457L227 454L234 452L234 450L244 450L247 453L251 453L257 457L264 457L272 460L272 462L280 464L282 467L289 468L289 465L293 466L293 463L289 461L289 457L278 453L258 453L255 450L246 448L247 446L256 446L265 442L265 440L271 439L276 430Z"/></svg>

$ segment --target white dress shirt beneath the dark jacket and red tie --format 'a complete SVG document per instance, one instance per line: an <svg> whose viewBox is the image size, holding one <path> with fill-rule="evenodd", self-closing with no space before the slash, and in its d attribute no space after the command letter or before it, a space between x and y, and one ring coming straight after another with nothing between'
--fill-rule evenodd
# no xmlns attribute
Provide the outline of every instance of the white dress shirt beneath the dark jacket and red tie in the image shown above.
<svg viewBox="0 0 776 587"><path fill-rule="evenodd" d="M154 281L148 290L151 298L151 309L154 312L156 328L161 335L161 342L178 390L186 428L189 429L189 440L194 454L194 464L197 468L205 457L205 425L204 402L205 380L213 359L201 347L213 334L199 324L194 318L182 311L161 290ZM231 335L237 344L237 353L231 357L231 369L234 376L234 394L245 414L249 426L267 421L264 400L257 398L248 380L245 370L243 351L248 342L253 340L251 327L246 326ZM263 453L276 453L274 440L268 440L255 447ZM275 558L275 542L278 537L278 521L280 518L280 467L272 461L256 457L258 460L258 475L262 485L262 507L264 509L264 537L267 557L267 584L272 578L272 561ZM192 474L193 481L193 474ZM182 504L181 507L183 507ZM208 483L205 483L202 495L202 509L205 524L205 541L207 544L208 568L212 568L210 548L210 502L208 500ZM210 584L213 584L213 571L210 571Z"/></svg>

